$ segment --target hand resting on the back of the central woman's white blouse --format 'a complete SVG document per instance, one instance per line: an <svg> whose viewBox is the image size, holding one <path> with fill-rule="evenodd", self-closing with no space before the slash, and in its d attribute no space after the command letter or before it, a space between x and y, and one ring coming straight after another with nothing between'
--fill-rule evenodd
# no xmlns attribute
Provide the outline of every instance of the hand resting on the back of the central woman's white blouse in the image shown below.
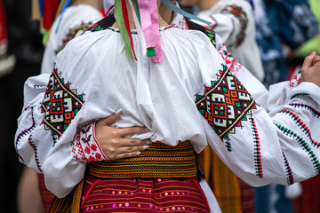
<svg viewBox="0 0 320 213"><path fill-rule="evenodd" d="M108 160L137 156L140 151L148 149L148 145L151 144L148 139L124 138L134 134L146 133L148 130L144 127L119 129L111 127L119 119L120 115L121 112L112 114L108 118L101 119L95 125L95 137Z"/></svg>

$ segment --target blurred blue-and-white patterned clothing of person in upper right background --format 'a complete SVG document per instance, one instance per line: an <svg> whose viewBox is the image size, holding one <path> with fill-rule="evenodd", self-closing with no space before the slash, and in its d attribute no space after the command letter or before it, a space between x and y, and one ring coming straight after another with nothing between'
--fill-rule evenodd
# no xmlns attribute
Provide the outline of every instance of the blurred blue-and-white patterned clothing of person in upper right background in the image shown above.
<svg viewBox="0 0 320 213"><path fill-rule="evenodd" d="M319 28L308 0L253 0L256 39L265 71L264 84L288 79L292 50L297 50ZM290 78L290 77L289 77Z"/></svg>

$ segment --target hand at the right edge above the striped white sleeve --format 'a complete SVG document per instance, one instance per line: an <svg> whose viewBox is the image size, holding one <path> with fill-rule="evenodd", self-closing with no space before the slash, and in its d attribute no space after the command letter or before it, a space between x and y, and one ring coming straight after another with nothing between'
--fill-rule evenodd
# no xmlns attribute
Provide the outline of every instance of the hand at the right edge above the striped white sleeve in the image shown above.
<svg viewBox="0 0 320 213"><path fill-rule="evenodd" d="M301 67L301 82L315 83L320 86L320 56L313 51L303 62Z"/></svg>

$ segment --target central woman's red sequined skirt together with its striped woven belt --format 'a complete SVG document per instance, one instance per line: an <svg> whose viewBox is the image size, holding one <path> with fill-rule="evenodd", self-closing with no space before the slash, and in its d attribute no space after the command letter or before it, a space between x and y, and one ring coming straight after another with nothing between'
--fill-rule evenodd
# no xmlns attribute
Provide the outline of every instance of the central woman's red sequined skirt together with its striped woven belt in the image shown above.
<svg viewBox="0 0 320 213"><path fill-rule="evenodd" d="M55 199L51 213L79 209L92 213L210 212L196 181L196 156L190 141L177 146L156 142L134 158L88 163L84 181L66 198Z"/></svg>

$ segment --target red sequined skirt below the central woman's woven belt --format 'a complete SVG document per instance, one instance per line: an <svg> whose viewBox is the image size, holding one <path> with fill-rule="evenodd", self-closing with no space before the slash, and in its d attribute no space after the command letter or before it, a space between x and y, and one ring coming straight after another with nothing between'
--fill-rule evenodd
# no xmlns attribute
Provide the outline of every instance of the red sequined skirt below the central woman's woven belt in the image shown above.
<svg viewBox="0 0 320 213"><path fill-rule="evenodd" d="M83 196L82 212L210 212L196 179L88 177Z"/></svg>

